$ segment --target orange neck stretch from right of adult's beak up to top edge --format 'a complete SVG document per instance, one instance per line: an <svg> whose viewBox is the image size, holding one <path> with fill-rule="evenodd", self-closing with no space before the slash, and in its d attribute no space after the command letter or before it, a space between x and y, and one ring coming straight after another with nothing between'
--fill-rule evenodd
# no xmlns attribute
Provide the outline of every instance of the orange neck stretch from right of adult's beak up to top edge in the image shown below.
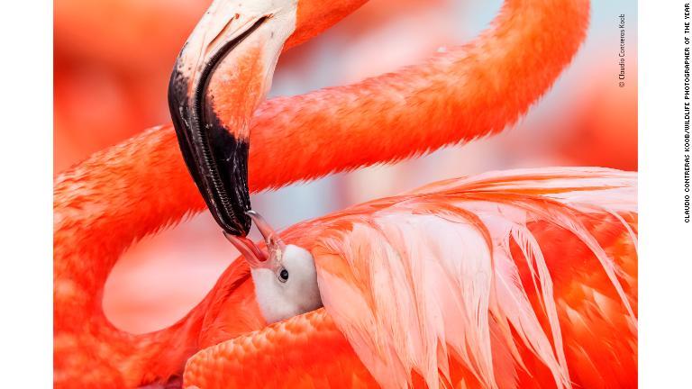
<svg viewBox="0 0 692 389"><path fill-rule="evenodd" d="M569 64L586 36L588 14L588 0L509 0L476 41L420 65L268 101L250 129L250 189L394 162L502 131Z"/></svg>

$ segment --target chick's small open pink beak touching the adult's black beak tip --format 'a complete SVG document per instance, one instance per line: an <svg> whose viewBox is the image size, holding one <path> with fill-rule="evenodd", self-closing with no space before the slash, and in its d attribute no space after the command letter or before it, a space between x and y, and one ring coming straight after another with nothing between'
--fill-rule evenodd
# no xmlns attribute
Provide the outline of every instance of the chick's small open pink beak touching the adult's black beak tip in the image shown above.
<svg viewBox="0 0 692 389"><path fill-rule="evenodd" d="M271 228L269 223L263 217L254 211L248 211L248 216L255 223L255 227L262 235L269 254L265 254L262 249L259 249L255 242L247 237L240 237L223 232L223 236L241 252L243 258L248 261L250 267L259 268L274 268L280 262L283 252L286 249L286 244L278 236L278 233Z"/></svg>

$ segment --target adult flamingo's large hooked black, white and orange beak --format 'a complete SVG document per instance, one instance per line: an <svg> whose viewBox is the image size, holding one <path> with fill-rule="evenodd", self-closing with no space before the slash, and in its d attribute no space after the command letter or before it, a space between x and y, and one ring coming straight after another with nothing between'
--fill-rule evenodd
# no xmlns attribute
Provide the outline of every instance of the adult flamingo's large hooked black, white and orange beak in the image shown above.
<svg viewBox="0 0 692 389"><path fill-rule="evenodd" d="M227 234L250 231L250 120L295 26L290 0L214 0L170 77L168 107L183 158Z"/></svg>

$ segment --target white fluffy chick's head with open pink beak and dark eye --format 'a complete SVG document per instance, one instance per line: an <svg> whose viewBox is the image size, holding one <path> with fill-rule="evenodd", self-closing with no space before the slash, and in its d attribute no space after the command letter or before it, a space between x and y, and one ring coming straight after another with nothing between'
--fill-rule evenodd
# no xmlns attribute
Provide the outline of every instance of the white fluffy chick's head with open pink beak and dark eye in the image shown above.
<svg viewBox="0 0 692 389"><path fill-rule="evenodd" d="M286 244L259 213L248 216L262 234L267 251L252 240L225 233L226 239L250 264L259 310L271 323L282 321L322 306L317 287L314 258L306 249Z"/></svg>

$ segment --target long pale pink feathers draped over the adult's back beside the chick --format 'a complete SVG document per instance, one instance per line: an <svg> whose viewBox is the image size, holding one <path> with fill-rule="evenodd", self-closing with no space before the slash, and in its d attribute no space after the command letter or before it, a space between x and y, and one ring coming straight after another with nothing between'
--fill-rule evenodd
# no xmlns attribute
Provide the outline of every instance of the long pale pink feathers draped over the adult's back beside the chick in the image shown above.
<svg viewBox="0 0 692 389"><path fill-rule="evenodd" d="M623 272L582 222L615 215L636 244L622 217L631 213L636 174L610 169L514 170L428 185L332 219L338 228L314 249L323 303L383 387L410 385L412 372L431 388L455 384L451 361L485 387L506 387L498 383L513 383L516 373L494 365L493 353L523 366L516 350L527 348L557 387L570 388L552 276L529 224L549 222L583 242L636 331ZM518 265L531 270L538 308ZM505 347L494 348L493 337Z"/></svg>

